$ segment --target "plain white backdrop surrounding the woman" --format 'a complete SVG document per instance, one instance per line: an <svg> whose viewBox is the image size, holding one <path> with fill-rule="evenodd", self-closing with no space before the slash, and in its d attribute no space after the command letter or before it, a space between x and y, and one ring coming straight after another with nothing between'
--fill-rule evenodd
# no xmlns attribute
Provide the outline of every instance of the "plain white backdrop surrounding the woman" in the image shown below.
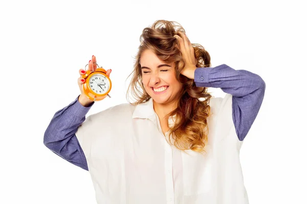
<svg viewBox="0 0 307 204"><path fill-rule="evenodd" d="M89 172L55 155L43 135L79 95L78 70L92 55L112 69L113 87L87 116L127 103L139 37L158 19L182 24L212 66L264 79L240 151L250 203L307 203L307 16L299 1L2 1L0 17L0 203L96 203Z"/></svg>

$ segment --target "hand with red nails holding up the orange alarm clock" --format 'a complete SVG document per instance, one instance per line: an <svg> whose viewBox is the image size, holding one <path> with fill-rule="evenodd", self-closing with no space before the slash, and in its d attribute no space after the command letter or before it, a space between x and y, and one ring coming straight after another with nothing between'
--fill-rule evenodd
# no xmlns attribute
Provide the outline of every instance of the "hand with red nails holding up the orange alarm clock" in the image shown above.
<svg viewBox="0 0 307 204"><path fill-rule="evenodd" d="M89 62L89 70L92 70L92 71L96 71L96 68L97 68L97 64L96 63L96 57L93 55L92 56L92 60L90 60ZM110 73L111 73L111 69L108 69L106 70L106 75L109 77L110 76ZM84 92L83 92L83 84L85 83L85 80L82 78L82 74L85 74L85 70L84 69L79 69L79 74L80 74L80 77L78 78L78 85L79 85L79 89L80 89L80 92L81 92L81 95L79 96L79 101L80 103L83 105L83 106L86 106L86 105L89 105L91 104L94 100L91 100L90 98L88 98ZM107 95L103 96L102 99L104 99Z"/></svg>

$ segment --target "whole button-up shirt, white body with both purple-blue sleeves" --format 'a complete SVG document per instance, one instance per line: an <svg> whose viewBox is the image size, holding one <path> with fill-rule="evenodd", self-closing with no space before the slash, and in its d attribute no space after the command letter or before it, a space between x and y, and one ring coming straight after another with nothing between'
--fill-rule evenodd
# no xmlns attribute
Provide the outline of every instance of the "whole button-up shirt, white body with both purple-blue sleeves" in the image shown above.
<svg viewBox="0 0 307 204"><path fill-rule="evenodd" d="M197 68L196 86L220 87L210 99L206 154L167 142L150 98L87 116L78 97L57 111L44 144L89 170L97 203L247 204L239 149L264 98L259 75L223 64ZM92 104L93 105L93 104ZM169 126L174 117L168 118ZM173 142L172 137L171 142Z"/></svg>

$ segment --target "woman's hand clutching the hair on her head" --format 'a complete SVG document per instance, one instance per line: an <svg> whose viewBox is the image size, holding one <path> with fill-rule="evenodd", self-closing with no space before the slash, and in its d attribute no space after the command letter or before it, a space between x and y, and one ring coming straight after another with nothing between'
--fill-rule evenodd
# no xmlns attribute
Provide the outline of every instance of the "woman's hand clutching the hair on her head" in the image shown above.
<svg viewBox="0 0 307 204"><path fill-rule="evenodd" d="M176 37L179 41L180 51L182 53L183 59L186 62L185 67L181 71L181 74L189 79L194 79L194 71L196 69L197 64L197 60L195 59L194 54L194 48L188 37L182 32L179 33L183 36L183 38L181 38L179 35L174 35L174 37ZM176 46L178 47L178 45Z"/></svg>

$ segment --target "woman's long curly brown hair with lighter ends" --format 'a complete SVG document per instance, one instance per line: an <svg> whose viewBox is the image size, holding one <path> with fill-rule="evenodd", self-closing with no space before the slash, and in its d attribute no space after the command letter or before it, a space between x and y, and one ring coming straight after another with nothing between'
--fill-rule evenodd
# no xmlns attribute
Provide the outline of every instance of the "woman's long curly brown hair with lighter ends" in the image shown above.
<svg viewBox="0 0 307 204"><path fill-rule="evenodd" d="M169 127L170 136L174 139L174 144L178 149L191 149L196 152L206 152L205 145L208 142L208 123L207 117L210 114L210 93L207 87L196 87L194 80L188 79L180 74L185 66L179 46L179 41L174 35L185 33L182 25L176 21L157 20L151 27L143 29L140 36L140 46L135 57L134 70L131 82L126 93L129 101L129 93L136 100L130 104L137 105L145 103L151 96L145 91L142 83L142 71L140 65L141 54L146 49L150 49L157 57L165 63L175 62L176 78L183 85L180 92L178 107L170 112L166 117L176 115L174 125ZM183 36L181 36L183 37ZM198 61L196 67L211 67L210 55L200 44L191 43L194 48L194 55ZM182 62L182 63L180 63ZM181 65L181 66L180 66ZM127 78L127 79L128 79ZM201 100L201 98L204 98Z"/></svg>

